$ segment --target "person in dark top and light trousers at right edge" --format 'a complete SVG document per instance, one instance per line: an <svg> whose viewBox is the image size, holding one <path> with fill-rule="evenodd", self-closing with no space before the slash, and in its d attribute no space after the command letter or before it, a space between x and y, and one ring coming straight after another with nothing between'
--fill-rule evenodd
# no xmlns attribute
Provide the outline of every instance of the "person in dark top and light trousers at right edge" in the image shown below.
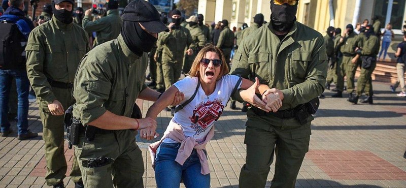
<svg viewBox="0 0 406 188"><path fill-rule="evenodd" d="M398 97L406 97L406 86L404 85L404 72L406 71L406 67L404 64L406 63L406 34L403 34L403 41L397 45L397 50L395 53L397 57L397 81L392 86L390 86L392 92L395 92L395 89L400 84L401 91L396 94Z"/></svg>

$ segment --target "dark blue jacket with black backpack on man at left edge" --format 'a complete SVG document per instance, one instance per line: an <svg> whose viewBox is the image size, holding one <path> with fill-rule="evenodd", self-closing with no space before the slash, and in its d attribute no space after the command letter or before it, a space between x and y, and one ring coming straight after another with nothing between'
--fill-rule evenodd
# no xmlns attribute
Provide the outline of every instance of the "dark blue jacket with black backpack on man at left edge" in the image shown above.
<svg viewBox="0 0 406 188"><path fill-rule="evenodd" d="M0 16L0 69L25 69L25 46L31 32L24 19Z"/></svg>

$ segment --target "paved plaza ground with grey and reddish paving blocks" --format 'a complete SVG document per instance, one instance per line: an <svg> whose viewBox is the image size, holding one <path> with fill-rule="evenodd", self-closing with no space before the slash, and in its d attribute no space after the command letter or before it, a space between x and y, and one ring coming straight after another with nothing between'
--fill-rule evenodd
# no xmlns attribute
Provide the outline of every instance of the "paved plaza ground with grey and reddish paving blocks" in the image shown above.
<svg viewBox="0 0 406 188"><path fill-rule="evenodd" d="M406 98L396 97L389 84L374 82L374 105L352 105L333 99L326 91L315 120L309 152L303 161L296 187L406 187ZM332 87L333 88L333 87ZM143 114L152 102L139 101ZM238 187L240 169L245 163L244 144L246 115L226 107L216 123L215 136L207 145L212 187ZM170 112L161 112L158 132L162 135L171 119ZM29 129L40 137L19 141L16 123L13 134L0 137L0 187L47 187L45 185L44 141L38 105L29 106ZM151 167L148 142L137 138L145 162L144 184L156 187ZM68 170L73 150L65 147ZM273 178L274 165L266 187ZM69 177L67 187L74 187ZM183 185L182 185L183 187ZM255 187L254 187L255 188Z"/></svg>

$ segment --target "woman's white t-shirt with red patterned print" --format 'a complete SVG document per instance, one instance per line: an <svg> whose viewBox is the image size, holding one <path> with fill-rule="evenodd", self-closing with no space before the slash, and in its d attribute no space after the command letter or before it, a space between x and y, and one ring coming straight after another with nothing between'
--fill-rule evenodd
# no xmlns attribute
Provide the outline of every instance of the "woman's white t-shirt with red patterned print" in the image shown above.
<svg viewBox="0 0 406 188"><path fill-rule="evenodd" d="M214 122L227 106L228 99L239 78L234 75L224 75L216 82L216 88L209 96L206 95L200 84L194 99L175 113L170 123L179 124L186 137L193 137L199 143L204 141ZM185 95L181 104L192 97L197 86L197 79L197 77L188 76L174 84ZM238 89L240 88L241 83L238 86ZM168 134L167 130L164 135L166 134ZM164 139L163 142L176 143L170 138Z"/></svg>

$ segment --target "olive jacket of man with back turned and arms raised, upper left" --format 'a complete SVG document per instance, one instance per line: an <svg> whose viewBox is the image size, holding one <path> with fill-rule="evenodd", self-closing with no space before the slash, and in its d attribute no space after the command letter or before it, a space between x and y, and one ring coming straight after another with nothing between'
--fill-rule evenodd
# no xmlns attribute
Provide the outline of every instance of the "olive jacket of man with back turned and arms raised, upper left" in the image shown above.
<svg viewBox="0 0 406 188"><path fill-rule="evenodd" d="M82 21L86 32L96 32L96 40L93 46L116 39L121 31L123 20L118 15L117 9L107 11L107 16L92 21L92 16L85 15Z"/></svg>

